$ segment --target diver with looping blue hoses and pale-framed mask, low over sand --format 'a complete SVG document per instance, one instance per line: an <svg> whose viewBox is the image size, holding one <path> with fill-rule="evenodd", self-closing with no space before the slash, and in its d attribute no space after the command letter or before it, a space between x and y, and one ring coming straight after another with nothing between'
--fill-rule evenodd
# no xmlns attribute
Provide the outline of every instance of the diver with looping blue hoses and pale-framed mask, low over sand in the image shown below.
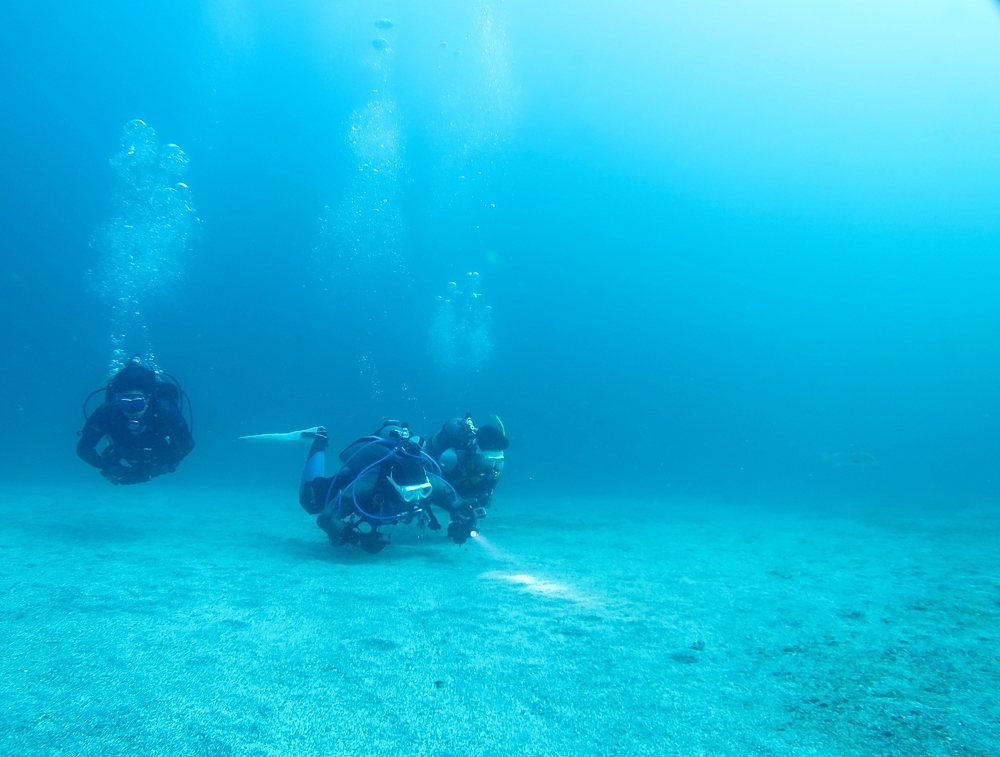
<svg viewBox="0 0 1000 757"><path fill-rule="evenodd" d="M431 506L451 512L459 503L438 464L410 438L405 422L386 421L371 436L348 446L332 478L323 475L326 429L304 433L311 433L313 442L302 471L299 504L318 516L316 525L332 543L354 544L374 554L388 544L380 528L416 521L421 528L437 531L441 524Z"/></svg>

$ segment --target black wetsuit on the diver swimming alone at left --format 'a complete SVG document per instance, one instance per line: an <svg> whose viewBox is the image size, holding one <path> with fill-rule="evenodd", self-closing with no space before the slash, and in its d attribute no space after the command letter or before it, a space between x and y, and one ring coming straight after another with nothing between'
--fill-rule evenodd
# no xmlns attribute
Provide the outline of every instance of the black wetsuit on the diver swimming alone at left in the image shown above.
<svg viewBox="0 0 1000 757"><path fill-rule="evenodd" d="M138 420L138 431L129 428L129 419L108 400L87 419L76 454L114 484L140 484L171 473L194 449L194 438L177 406L161 397L149 400ZM97 451L102 439L107 446Z"/></svg>

